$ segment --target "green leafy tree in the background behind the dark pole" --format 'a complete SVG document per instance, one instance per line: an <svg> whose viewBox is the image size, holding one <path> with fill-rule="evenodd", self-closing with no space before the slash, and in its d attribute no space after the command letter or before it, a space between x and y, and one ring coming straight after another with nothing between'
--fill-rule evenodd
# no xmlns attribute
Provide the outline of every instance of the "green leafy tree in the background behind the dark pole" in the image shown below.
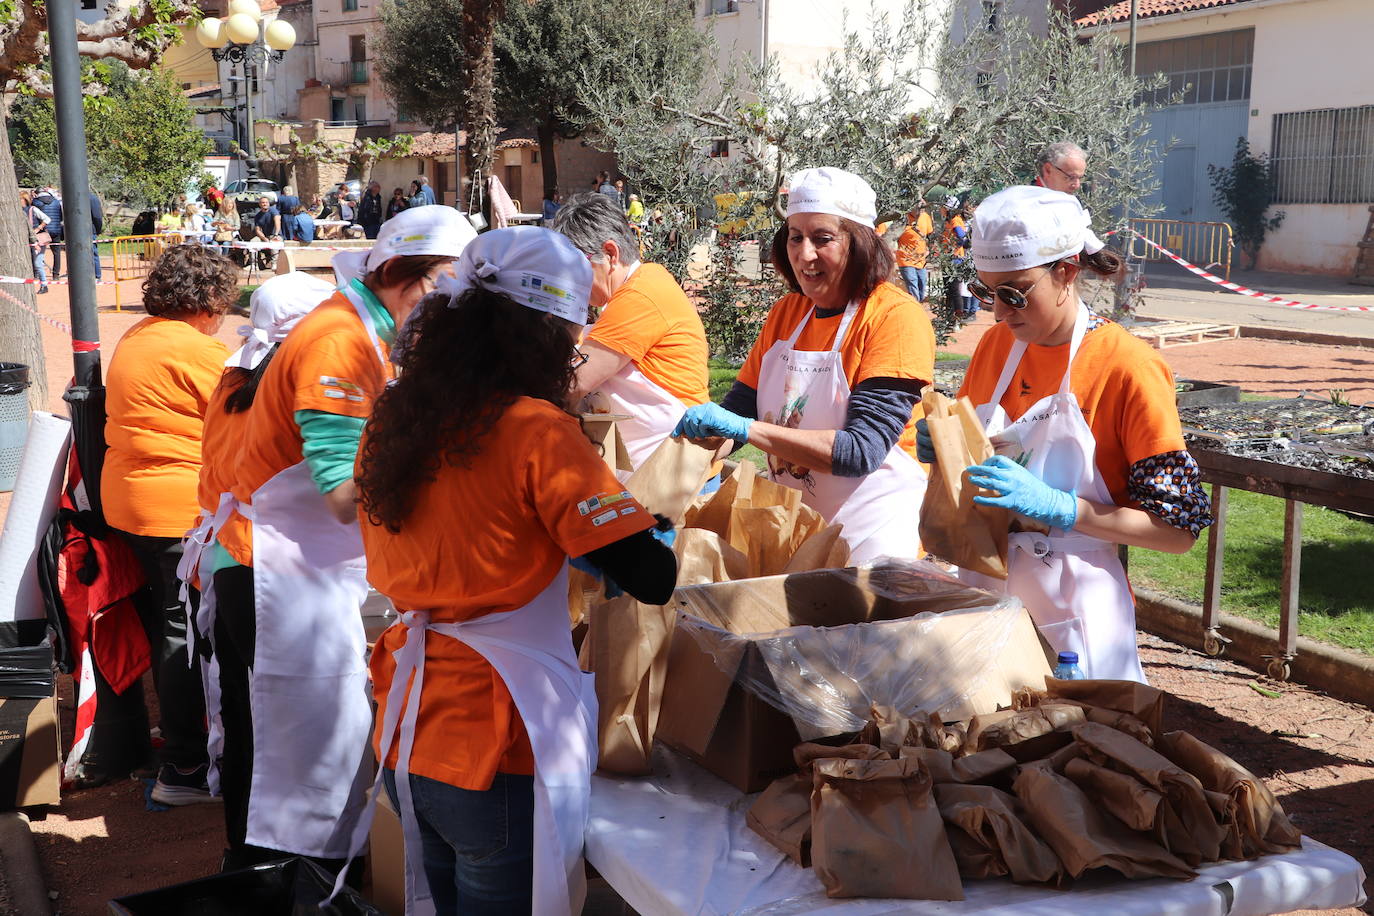
<svg viewBox="0 0 1374 916"><path fill-rule="evenodd" d="M107 93L87 104L91 188L135 207L162 206L203 173L210 141L168 73L124 65L92 69ZM52 100L25 96L10 110L14 159L25 184L58 183L58 133Z"/></svg>

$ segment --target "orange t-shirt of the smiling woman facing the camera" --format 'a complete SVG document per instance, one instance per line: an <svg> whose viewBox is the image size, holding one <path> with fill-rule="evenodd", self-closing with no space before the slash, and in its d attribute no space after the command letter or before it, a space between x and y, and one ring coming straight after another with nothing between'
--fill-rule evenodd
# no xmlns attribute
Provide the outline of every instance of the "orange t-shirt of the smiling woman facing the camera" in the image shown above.
<svg viewBox="0 0 1374 916"><path fill-rule="evenodd" d="M764 353L778 341L790 338L808 314L811 319L794 343L796 349L831 349L844 316L818 319L813 309L815 304L800 293L778 299L739 369L739 380L757 391ZM851 390L867 379L916 379L929 383L936 374L936 332L930 316L905 290L899 290L892 283L879 283L849 325L840 346L840 358ZM912 457L916 455L915 420L923 416L921 411L918 402L912 409L912 419L907 420L907 427L897 439Z"/></svg>

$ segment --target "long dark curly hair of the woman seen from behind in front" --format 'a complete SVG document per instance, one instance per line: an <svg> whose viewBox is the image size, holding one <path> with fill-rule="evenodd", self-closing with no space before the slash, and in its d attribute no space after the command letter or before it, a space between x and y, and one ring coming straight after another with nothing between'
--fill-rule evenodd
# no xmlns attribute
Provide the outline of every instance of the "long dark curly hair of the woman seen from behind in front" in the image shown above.
<svg viewBox="0 0 1374 916"><path fill-rule="evenodd" d="M398 531L442 466L469 467L515 398L566 409L574 325L491 290L420 301L393 356L398 378L376 400L359 470L359 501Z"/></svg>

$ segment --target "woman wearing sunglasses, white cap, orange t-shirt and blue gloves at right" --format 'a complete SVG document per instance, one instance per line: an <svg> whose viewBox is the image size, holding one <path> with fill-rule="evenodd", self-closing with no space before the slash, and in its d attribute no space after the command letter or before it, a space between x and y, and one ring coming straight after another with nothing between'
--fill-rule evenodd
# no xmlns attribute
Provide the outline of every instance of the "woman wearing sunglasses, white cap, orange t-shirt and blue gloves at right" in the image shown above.
<svg viewBox="0 0 1374 916"><path fill-rule="evenodd" d="M977 503L1048 527L1011 534L1006 591L1057 652L1079 654L1088 677L1143 683L1117 544L1183 553L1212 523L1173 376L1079 298L1083 271L1110 276L1121 258L1103 250L1077 199L1039 187L989 196L973 220L973 261L970 291L998 324L959 394L977 405L998 455L969 479L991 492Z"/></svg>

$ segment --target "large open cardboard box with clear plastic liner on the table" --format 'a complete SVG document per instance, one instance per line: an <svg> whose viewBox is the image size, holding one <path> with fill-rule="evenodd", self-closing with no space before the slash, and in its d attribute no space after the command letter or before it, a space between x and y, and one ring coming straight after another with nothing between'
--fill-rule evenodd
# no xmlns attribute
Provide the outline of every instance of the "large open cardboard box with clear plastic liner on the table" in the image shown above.
<svg viewBox="0 0 1374 916"><path fill-rule="evenodd" d="M816 709L861 715L867 702L900 705L881 695L892 688L941 698L932 711L954 721L1007 706L1013 691L1040 688L1050 673L1020 603L927 564L697 585L677 589L675 602L680 617L657 737L745 792L793 772L798 742L857 731L818 725L844 715ZM864 629L831 629L845 625ZM797 629L778 633L786 628ZM872 672L835 670L846 655L831 651L837 645L861 650ZM912 670L921 677L905 677ZM816 680L826 688L815 691ZM844 699L826 699L835 695Z"/></svg>

